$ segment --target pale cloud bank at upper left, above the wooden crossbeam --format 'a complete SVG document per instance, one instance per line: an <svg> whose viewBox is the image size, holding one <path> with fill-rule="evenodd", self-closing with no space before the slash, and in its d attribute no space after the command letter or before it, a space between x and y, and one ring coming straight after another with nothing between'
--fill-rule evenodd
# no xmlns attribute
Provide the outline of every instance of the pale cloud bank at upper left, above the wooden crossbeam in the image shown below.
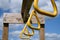
<svg viewBox="0 0 60 40"><path fill-rule="evenodd" d="M3 10L10 9L11 12L20 12L22 0L0 0L0 8Z"/></svg>

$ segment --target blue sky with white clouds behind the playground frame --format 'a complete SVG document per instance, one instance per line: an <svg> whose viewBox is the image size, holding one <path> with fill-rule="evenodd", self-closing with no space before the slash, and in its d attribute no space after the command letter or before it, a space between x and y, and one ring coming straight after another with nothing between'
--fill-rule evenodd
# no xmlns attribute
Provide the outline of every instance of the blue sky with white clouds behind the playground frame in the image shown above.
<svg viewBox="0 0 60 40"><path fill-rule="evenodd" d="M45 17L45 40L60 40L60 0L55 0L58 7L58 15L55 18ZM20 13L22 0L0 0L0 38L3 31L3 13ZM39 0L39 7L47 11L53 11L50 0ZM31 10L33 7L31 8ZM30 11L31 12L31 11ZM35 26L35 25L34 25ZM9 25L9 40L20 40L19 33L24 24ZM39 40L39 31L31 40Z"/></svg>

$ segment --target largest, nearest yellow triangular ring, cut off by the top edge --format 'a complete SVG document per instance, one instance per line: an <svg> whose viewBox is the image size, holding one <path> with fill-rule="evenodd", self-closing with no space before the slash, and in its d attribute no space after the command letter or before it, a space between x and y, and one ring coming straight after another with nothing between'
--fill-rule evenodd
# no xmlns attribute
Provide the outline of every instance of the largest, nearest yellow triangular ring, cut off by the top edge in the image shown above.
<svg viewBox="0 0 60 40"><path fill-rule="evenodd" d="M51 0L51 3L52 3L52 6L53 6L53 9L54 9L54 12L47 12L45 10L42 10L38 7L38 0L34 0L34 9L39 13L39 14L43 14L43 15L46 15L46 16L50 16L50 17L55 17L58 13L58 10L57 10L57 6L55 4L55 1L54 0Z"/></svg>

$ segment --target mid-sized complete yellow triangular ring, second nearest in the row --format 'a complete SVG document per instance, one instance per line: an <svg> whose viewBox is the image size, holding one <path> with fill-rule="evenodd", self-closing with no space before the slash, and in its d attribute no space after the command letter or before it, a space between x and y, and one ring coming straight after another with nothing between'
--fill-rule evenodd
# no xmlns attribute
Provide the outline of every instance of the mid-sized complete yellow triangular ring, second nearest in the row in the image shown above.
<svg viewBox="0 0 60 40"><path fill-rule="evenodd" d="M32 19L32 16L33 16L33 15L34 15L34 16L36 17L36 19L37 19L37 24L38 24L38 27L37 27L37 28L34 27L34 26L32 26L31 23L30 23L30 20ZM39 21L39 18L38 18L37 14L36 14L36 12L35 12L34 10L33 10L32 13L30 14L30 17L29 17L29 19L28 19L28 21L27 21L26 24L27 24L28 27L30 27L31 29L40 30L40 21Z"/></svg>

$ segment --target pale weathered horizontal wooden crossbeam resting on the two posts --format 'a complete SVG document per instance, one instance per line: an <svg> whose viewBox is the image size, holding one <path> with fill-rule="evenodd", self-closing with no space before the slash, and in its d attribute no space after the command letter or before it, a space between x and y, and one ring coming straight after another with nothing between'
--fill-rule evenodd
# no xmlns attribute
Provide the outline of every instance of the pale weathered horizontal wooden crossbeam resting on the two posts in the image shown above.
<svg viewBox="0 0 60 40"><path fill-rule="evenodd" d="M37 16L38 16L38 18L40 20L40 23L44 24L45 23L44 16L40 15L40 14L37 14ZM37 23L37 20L36 20L36 18L34 16L32 17L31 21L32 21L33 24ZM24 22L23 22L21 13L4 13L4 15L3 15L3 23L23 24Z"/></svg>

